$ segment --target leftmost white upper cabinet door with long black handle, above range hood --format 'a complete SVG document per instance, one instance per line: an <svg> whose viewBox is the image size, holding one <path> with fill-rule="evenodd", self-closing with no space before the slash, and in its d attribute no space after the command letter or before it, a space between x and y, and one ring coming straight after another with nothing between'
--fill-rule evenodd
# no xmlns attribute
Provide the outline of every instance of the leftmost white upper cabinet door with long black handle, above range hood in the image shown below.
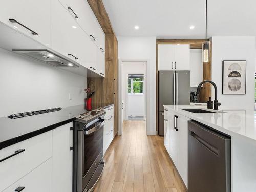
<svg viewBox="0 0 256 192"><path fill-rule="evenodd" d="M51 0L1 2L0 21L47 47L51 46Z"/></svg>

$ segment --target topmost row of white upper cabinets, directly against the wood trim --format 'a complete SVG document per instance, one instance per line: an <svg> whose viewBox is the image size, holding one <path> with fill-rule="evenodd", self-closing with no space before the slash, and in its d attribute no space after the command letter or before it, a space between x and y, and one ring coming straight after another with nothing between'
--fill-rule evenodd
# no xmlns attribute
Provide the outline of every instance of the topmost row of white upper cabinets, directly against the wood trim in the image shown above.
<svg viewBox="0 0 256 192"><path fill-rule="evenodd" d="M88 34L96 46L104 53L105 33L101 29L90 5L86 0L59 0L70 12L80 27Z"/></svg>

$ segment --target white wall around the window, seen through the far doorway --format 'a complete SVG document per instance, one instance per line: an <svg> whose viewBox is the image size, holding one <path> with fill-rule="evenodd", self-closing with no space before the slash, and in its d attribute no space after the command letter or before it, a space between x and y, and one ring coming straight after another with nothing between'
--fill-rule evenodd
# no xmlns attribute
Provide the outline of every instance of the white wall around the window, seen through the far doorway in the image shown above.
<svg viewBox="0 0 256 192"><path fill-rule="evenodd" d="M146 62L122 62L122 100L123 100L123 119L128 120L128 115L144 115L144 95L128 95L128 82L129 74L144 74L144 81L146 80ZM144 91L146 88L144 84ZM142 101L142 103L141 103ZM146 116L146 115L145 115Z"/></svg>

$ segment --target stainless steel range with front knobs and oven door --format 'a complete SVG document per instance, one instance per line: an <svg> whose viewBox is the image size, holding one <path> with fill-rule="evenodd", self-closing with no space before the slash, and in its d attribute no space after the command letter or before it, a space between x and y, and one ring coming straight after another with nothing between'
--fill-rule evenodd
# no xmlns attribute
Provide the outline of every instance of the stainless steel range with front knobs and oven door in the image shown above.
<svg viewBox="0 0 256 192"><path fill-rule="evenodd" d="M74 121L73 192L93 191L103 172L105 113L98 108L81 113Z"/></svg>

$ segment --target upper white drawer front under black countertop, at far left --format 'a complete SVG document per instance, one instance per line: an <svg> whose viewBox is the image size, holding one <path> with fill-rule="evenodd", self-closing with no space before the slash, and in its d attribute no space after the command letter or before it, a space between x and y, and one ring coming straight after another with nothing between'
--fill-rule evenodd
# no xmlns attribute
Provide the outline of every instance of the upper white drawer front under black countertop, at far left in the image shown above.
<svg viewBox="0 0 256 192"><path fill-rule="evenodd" d="M0 162L0 191L52 156L52 131L3 148L0 150L0 159L14 154L17 150L25 151Z"/></svg>

